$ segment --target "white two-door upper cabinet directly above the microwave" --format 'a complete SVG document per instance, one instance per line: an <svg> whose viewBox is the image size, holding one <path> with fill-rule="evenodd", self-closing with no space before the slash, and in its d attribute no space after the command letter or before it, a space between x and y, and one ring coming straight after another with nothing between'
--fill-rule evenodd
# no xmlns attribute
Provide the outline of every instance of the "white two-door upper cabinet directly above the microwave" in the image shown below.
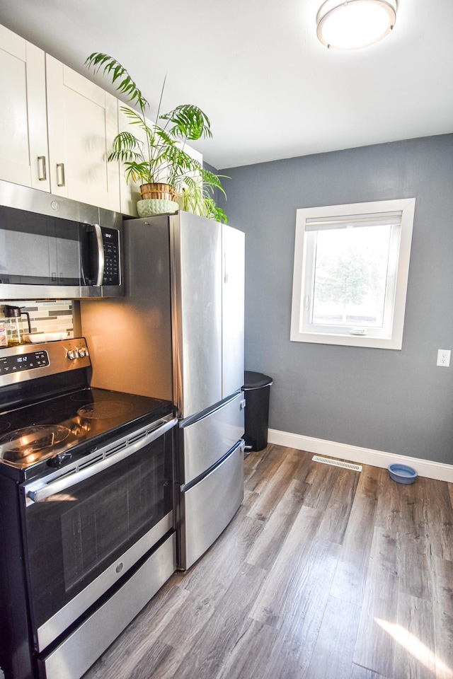
<svg viewBox="0 0 453 679"><path fill-rule="evenodd" d="M120 211L118 101L0 25L0 179Z"/></svg>

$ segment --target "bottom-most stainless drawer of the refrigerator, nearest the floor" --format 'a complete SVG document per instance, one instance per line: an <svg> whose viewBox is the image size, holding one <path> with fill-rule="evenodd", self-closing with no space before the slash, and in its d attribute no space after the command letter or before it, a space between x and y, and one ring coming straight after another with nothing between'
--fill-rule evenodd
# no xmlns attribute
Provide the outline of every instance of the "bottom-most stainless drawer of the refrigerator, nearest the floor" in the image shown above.
<svg viewBox="0 0 453 679"><path fill-rule="evenodd" d="M243 441L238 441L222 463L180 492L178 567L190 568L205 553L228 526L242 500Z"/></svg>

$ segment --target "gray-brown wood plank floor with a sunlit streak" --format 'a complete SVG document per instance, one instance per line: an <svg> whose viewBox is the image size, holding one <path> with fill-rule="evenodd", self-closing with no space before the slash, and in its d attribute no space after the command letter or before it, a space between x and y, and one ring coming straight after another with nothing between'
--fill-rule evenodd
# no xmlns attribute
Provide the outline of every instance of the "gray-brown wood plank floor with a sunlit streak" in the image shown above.
<svg viewBox="0 0 453 679"><path fill-rule="evenodd" d="M243 505L84 679L453 679L453 484L270 445Z"/></svg>

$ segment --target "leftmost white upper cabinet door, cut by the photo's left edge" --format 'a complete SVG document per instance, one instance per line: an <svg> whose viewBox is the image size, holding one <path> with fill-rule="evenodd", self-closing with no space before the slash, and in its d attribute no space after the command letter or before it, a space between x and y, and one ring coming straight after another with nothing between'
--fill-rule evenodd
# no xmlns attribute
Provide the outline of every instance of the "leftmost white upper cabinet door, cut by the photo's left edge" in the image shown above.
<svg viewBox="0 0 453 679"><path fill-rule="evenodd" d="M50 191L45 55L0 25L0 179Z"/></svg>

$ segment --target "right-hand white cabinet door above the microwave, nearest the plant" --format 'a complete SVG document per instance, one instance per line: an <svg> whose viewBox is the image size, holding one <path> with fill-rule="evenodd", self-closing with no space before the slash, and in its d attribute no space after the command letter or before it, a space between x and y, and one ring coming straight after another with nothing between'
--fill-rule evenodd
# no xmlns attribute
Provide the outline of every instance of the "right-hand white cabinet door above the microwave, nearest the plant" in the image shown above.
<svg viewBox="0 0 453 679"><path fill-rule="evenodd" d="M119 210L119 166L107 161L117 99L48 54L46 75L52 193Z"/></svg>

